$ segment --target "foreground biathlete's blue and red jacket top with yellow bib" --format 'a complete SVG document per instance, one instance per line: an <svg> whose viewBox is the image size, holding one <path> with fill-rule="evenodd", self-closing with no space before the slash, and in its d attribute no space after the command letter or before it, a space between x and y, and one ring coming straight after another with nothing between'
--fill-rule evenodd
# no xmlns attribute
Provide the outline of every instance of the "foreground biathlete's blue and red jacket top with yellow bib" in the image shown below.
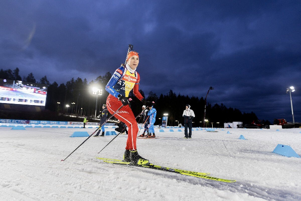
<svg viewBox="0 0 301 201"><path fill-rule="evenodd" d="M130 74L125 67L120 66L113 73L105 86L105 90L116 98L118 98L119 94L128 97L129 91L133 90L134 95L139 100L142 100L143 96L139 92L139 83L140 75L138 72Z"/></svg>

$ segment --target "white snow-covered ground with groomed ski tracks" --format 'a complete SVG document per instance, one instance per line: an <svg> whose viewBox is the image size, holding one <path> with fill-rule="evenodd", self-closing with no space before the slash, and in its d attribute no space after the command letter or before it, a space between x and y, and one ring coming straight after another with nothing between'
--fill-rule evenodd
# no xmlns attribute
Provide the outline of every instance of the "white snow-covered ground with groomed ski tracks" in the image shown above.
<svg viewBox="0 0 301 201"><path fill-rule="evenodd" d="M70 138L74 131L94 130L0 128L0 200L301 200L301 158L272 153L284 144L301 155L301 129L203 130L193 131L193 139L157 129L157 139L137 139L139 154L155 164L210 172L235 183L95 158L121 159L126 135L100 154L114 136L91 137L61 161L86 139Z"/></svg>

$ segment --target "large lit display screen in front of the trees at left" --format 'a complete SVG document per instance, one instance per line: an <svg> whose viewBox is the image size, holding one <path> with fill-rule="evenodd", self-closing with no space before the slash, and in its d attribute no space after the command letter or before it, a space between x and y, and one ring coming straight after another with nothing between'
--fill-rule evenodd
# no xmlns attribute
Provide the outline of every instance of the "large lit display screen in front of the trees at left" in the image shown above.
<svg viewBox="0 0 301 201"><path fill-rule="evenodd" d="M0 103L45 106L47 85L0 79Z"/></svg>

